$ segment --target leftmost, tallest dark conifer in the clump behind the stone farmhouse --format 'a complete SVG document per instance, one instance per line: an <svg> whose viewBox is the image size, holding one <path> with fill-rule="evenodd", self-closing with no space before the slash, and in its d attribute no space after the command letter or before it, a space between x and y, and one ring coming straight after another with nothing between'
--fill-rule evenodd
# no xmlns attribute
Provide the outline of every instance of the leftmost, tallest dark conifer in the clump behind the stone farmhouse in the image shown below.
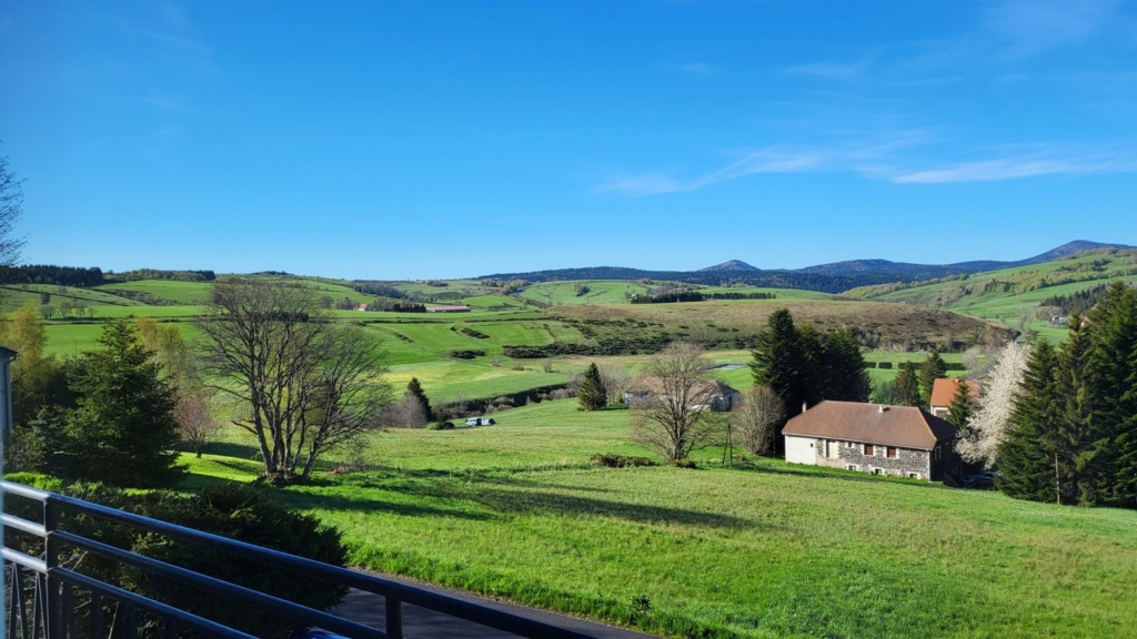
<svg viewBox="0 0 1137 639"><path fill-rule="evenodd" d="M803 340L786 308L773 312L766 326L750 362L754 383L770 387L781 398L787 416L797 415L803 404L816 401L813 348Z"/></svg>

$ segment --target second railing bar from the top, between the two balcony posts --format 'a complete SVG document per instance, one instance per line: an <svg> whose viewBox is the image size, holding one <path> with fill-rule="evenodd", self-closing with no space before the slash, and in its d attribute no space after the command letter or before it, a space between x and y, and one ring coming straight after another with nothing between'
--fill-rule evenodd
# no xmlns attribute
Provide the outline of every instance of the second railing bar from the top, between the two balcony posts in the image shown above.
<svg viewBox="0 0 1137 639"><path fill-rule="evenodd" d="M262 608L281 613L289 619L294 619L299 622L308 623L310 625L317 625L325 630L331 630L340 634L347 634L355 639L385 639L387 633L374 628L356 623L354 621L348 621L343 617L338 617L327 613L315 611L313 608L289 601L287 599L281 599L279 597L273 597L272 595L266 595L257 590L246 588L243 586L238 586L235 583L230 583L227 581L217 579L215 576L209 576L207 574L201 574L199 572L193 572L181 566L175 566L166 562L155 559L152 557L147 557L144 555L139 555L136 553L131 553L130 550L123 550L122 548L115 548L101 541L96 541L93 539L88 539L85 537L80 537L65 531L55 531L51 533L52 539L57 539L64 543L75 546L77 548L83 548L85 550L91 550L103 557L108 557L121 562L123 564L134 566L140 570L151 572L153 574L173 579L175 581L181 581L182 583L188 583L190 586L196 586L202 590L216 592L218 595L235 597L238 599L249 601Z"/></svg>

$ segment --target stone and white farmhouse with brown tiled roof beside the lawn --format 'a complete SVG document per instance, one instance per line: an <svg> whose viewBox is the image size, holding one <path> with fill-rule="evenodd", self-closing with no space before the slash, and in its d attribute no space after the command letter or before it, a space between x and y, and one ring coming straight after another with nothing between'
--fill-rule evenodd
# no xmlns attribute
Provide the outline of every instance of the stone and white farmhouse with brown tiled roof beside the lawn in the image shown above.
<svg viewBox="0 0 1137 639"><path fill-rule="evenodd" d="M955 426L911 406L822 401L782 434L796 464L936 481L958 473Z"/></svg>

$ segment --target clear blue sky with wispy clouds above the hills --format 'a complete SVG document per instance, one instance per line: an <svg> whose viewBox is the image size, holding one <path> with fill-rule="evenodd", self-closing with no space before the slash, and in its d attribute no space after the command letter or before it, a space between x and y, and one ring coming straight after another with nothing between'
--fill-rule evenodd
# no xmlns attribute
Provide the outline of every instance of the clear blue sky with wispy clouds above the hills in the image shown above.
<svg viewBox="0 0 1137 639"><path fill-rule="evenodd" d="M25 259L359 279L1137 244L1137 6L5 2Z"/></svg>

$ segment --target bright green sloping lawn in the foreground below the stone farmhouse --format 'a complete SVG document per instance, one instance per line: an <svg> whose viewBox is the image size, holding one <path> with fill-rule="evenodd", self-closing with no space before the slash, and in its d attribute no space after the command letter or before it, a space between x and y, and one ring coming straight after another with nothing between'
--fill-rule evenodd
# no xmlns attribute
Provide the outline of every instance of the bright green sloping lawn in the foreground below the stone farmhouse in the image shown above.
<svg viewBox="0 0 1137 639"><path fill-rule="evenodd" d="M667 636L1109 637L1137 623L1134 512L750 460L645 454L628 413L573 400L496 426L391 431L374 470L281 496L371 569ZM248 448L191 483L251 476Z"/></svg>

